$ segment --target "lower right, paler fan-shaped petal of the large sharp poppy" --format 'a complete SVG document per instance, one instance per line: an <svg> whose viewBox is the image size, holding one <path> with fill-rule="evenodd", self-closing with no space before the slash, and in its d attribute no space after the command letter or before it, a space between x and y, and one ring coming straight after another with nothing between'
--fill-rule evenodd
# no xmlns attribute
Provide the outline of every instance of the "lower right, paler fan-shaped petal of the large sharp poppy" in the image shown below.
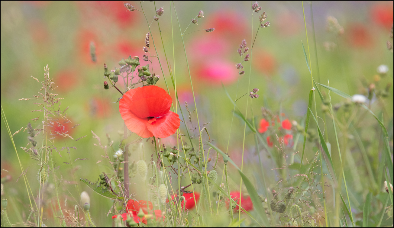
<svg viewBox="0 0 394 228"><path fill-rule="evenodd" d="M165 138L173 135L180 126L180 119L177 113L169 111L156 121L146 124L147 129L152 132L152 134L159 138Z"/></svg>

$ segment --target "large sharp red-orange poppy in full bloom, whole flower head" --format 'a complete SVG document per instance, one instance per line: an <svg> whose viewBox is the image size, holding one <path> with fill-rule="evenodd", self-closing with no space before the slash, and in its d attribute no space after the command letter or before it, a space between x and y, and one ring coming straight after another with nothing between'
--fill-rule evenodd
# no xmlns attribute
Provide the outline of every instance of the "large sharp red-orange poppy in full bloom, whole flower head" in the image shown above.
<svg viewBox="0 0 394 228"><path fill-rule="evenodd" d="M119 101L119 111L127 128L137 135L165 138L180 126L177 113L170 111L172 99L156 85L127 91Z"/></svg>

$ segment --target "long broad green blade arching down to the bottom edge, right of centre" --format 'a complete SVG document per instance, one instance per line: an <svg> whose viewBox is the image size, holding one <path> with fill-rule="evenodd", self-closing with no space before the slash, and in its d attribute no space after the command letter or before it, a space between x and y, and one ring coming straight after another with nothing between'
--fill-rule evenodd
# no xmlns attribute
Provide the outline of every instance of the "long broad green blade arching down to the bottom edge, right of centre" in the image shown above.
<svg viewBox="0 0 394 228"><path fill-rule="evenodd" d="M219 152L222 156L227 156L225 155L225 153L223 151L221 151L219 148L217 148L215 145L213 145L212 143L208 142L208 145L212 146L217 152ZM262 202L260 200L260 197L258 197L257 191L255 189L255 187L253 186L253 184L251 183L251 181L249 180L249 178L246 177L246 175L241 171L240 168L238 168L238 166L234 163L234 161L232 161L232 159L229 159L229 162L234 165L234 167L236 167L236 169L238 169L238 172L241 175L242 181L245 184L245 187L247 189L247 192L249 193L249 196L253 202L253 207L255 208L256 212L258 213L258 215L260 216L260 219L262 220L262 223L264 226L269 227L269 222L268 222L268 218L266 215L266 212L263 208ZM242 205L242 201L241 201L241 205Z"/></svg>

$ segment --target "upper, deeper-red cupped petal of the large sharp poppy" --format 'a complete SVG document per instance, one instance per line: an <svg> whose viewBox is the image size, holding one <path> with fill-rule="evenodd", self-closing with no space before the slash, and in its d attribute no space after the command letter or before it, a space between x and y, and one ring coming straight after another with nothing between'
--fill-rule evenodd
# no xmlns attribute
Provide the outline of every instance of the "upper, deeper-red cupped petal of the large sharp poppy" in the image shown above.
<svg viewBox="0 0 394 228"><path fill-rule="evenodd" d="M129 108L140 118L160 117L168 113L171 103L171 96L164 89L151 85L140 87L139 90L135 91L129 103Z"/></svg>

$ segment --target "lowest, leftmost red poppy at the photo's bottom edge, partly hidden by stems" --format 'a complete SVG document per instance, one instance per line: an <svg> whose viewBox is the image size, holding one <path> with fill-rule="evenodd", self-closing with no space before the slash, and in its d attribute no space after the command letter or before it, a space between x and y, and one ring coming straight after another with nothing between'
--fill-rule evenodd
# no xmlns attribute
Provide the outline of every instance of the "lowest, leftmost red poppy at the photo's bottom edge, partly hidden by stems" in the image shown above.
<svg viewBox="0 0 394 228"><path fill-rule="evenodd" d="M149 205L149 207L148 207ZM123 221L126 221L128 217L133 217L134 222L142 222L144 224L147 224L147 219L145 217L138 217L138 212L139 210L142 210L145 215L150 214L151 211L153 211L153 204L150 201L145 201L145 200L128 200L126 210L127 213L120 214L122 217ZM161 210L154 210L154 215L156 217L156 221L159 220L162 217L162 211ZM112 219L116 219L119 215L113 215ZM164 221L164 217L163 217Z"/></svg>

